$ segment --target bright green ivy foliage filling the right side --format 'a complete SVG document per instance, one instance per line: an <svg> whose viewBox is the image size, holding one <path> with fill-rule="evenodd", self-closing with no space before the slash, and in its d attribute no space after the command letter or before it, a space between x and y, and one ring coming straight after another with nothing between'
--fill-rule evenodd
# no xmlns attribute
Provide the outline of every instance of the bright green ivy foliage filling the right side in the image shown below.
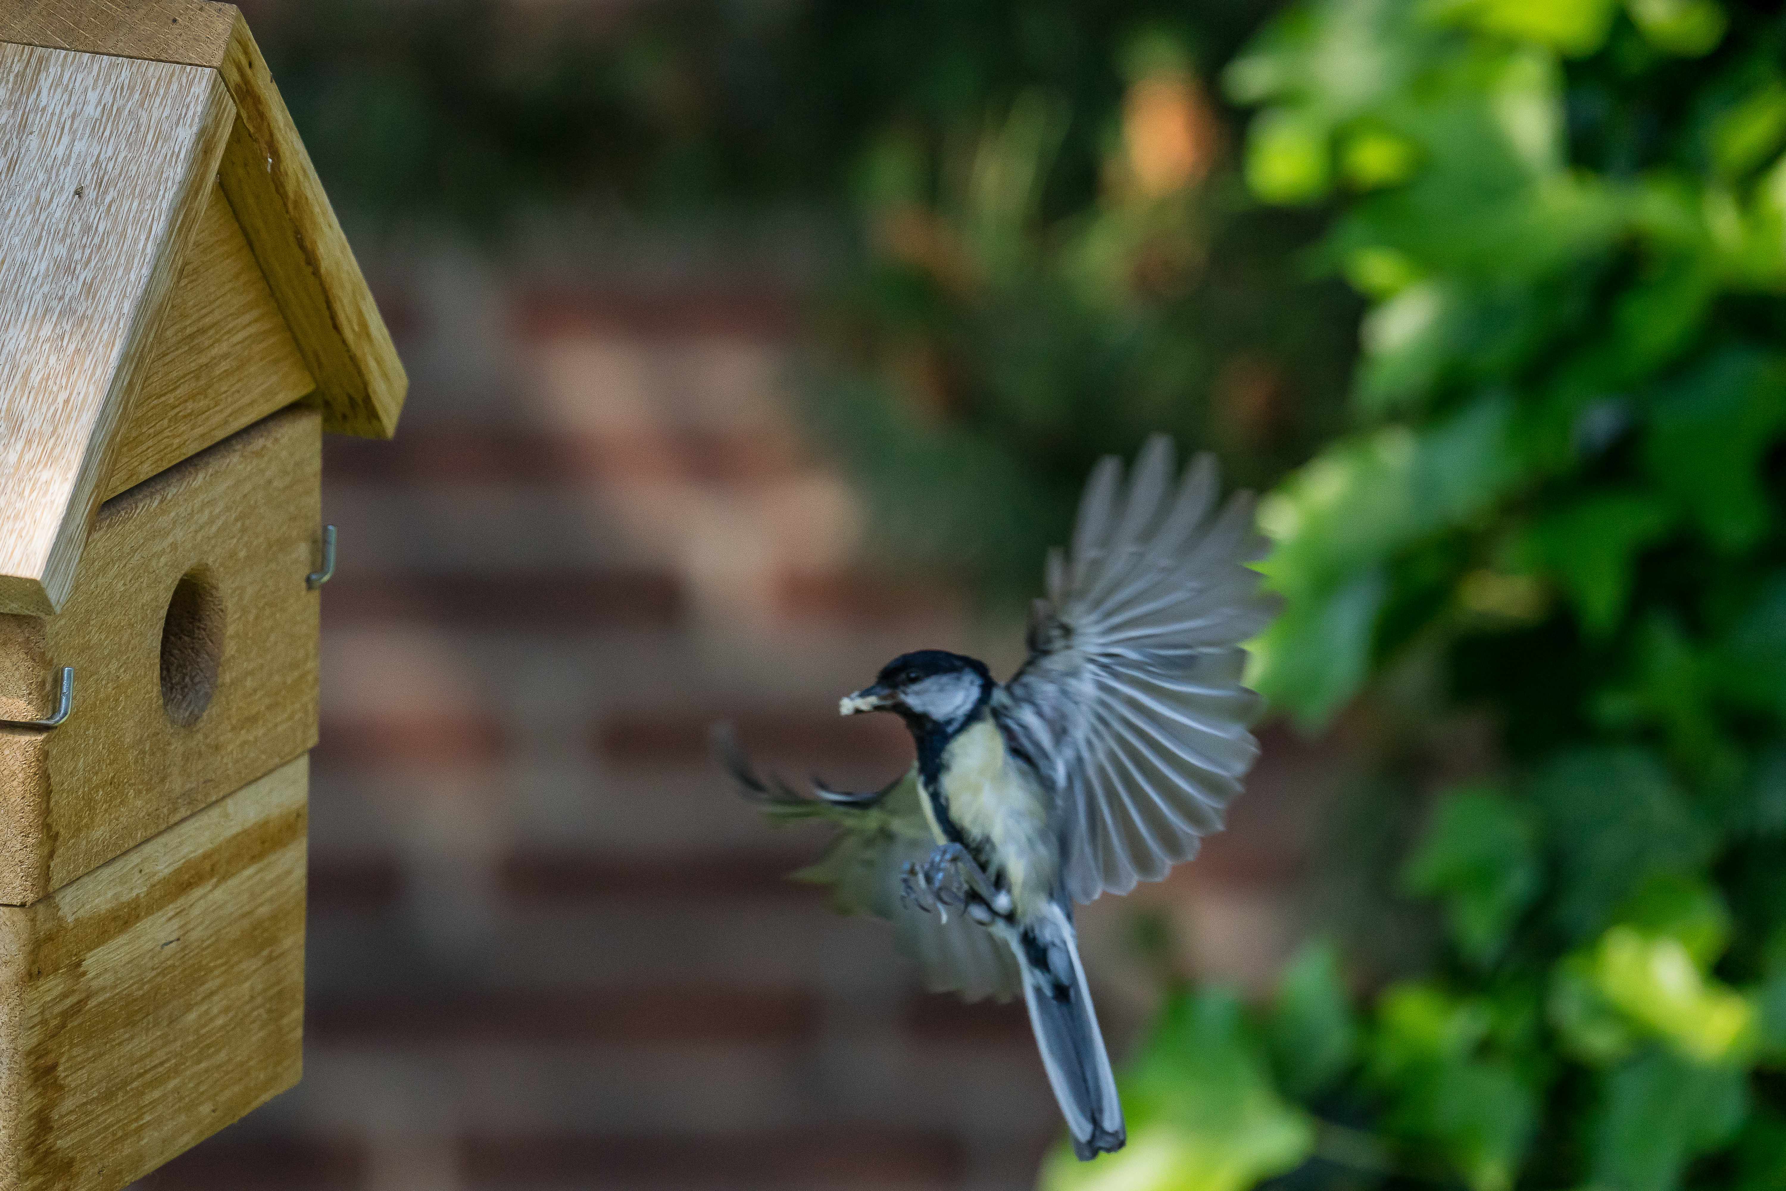
<svg viewBox="0 0 1786 1191"><path fill-rule="evenodd" d="M1234 1027L1266 1066L1200 1093L1270 1070L1281 1120L1218 1154L1295 1120L1282 1186L1786 1186L1786 16L1302 0L1225 84L1370 302L1352 429L1261 507L1256 680L1318 729L1420 659L1498 750L1404 861L1440 950L1297 959ZM1229 1186L1143 1162L1045 1184Z"/></svg>

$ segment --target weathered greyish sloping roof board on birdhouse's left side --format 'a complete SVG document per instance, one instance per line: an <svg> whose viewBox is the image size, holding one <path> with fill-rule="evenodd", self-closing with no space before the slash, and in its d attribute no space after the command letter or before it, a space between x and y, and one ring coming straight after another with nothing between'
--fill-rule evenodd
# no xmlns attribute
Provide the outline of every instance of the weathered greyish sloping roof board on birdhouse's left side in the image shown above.
<svg viewBox="0 0 1786 1191"><path fill-rule="evenodd" d="M232 120L198 66L0 45L0 611L68 598Z"/></svg>

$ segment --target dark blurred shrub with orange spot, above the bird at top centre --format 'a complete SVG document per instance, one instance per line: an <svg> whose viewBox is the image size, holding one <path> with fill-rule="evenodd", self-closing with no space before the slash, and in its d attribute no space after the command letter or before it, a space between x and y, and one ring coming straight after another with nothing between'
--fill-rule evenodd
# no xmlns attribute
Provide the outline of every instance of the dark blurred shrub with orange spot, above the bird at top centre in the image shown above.
<svg viewBox="0 0 1786 1191"><path fill-rule="evenodd" d="M1261 486L1341 425L1354 304L1302 259L1318 220L1247 195L1209 86L1254 21L1181 7L1061 9L1100 86L895 114L855 162L863 259L818 312L807 407L882 548L995 598L1034 595L1100 455L1166 430Z"/></svg>

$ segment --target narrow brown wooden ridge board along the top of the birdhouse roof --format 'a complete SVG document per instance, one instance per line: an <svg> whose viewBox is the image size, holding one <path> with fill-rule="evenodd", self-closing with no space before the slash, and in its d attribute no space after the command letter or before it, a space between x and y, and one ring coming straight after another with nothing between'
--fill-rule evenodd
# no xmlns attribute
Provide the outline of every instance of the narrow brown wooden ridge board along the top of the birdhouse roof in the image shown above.
<svg viewBox="0 0 1786 1191"><path fill-rule="evenodd" d="M7 0L0 41L214 68L234 23L236 5L207 0Z"/></svg>

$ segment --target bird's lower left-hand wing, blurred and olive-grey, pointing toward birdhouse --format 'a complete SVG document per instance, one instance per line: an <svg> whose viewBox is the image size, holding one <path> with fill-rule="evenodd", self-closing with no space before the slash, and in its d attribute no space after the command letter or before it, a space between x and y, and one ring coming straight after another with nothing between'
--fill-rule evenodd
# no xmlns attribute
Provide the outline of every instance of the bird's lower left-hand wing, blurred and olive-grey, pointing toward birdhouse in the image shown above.
<svg viewBox="0 0 1786 1191"><path fill-rule="evenodd" d="M825 854L793 873L795 880L830 886L839 914L873 914L893 923L897 946L918 962L929 991L961 993L970 1002L1009 1000L1022 991L1016 959L986 927L957 912L943 921L939 914L900 902L906 864L922 864L936 848L918 802L916 766L864 795L814 784L813 796L804 796L775 777L757 777L730 732L714 732L714 750L745 796L770 820L816 818L838 827Z"/></svg>

